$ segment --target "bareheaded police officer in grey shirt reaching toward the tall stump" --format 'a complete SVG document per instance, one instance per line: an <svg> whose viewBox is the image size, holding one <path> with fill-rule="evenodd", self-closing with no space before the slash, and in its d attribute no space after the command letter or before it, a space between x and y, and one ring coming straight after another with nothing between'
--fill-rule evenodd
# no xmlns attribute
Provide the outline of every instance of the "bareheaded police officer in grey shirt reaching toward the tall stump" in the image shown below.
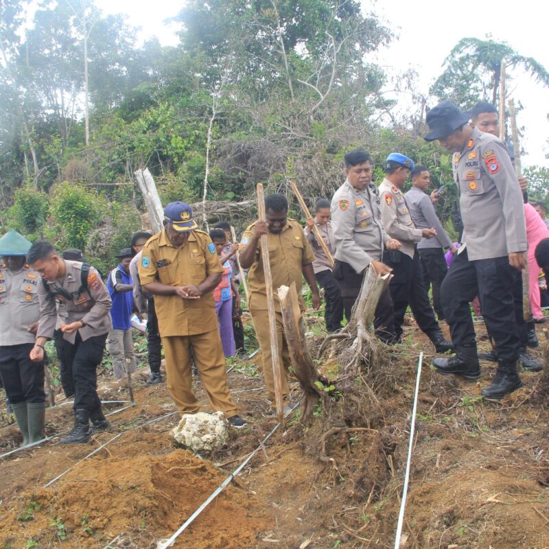
<svg viewBox="0 0 549 549"><path fill-rule="evenodd" d="M331 228L336 246L334 278L340 283L345 316L351 318L366 267L371 264L377 274L389 274L392 269L382 263L384 247L397 250L401 244L383 229L370 154L364 149L345 154L345 176L345 183L331 199ZM377 303L374 327L382 341L396 341L388 288Z"/></svg>

